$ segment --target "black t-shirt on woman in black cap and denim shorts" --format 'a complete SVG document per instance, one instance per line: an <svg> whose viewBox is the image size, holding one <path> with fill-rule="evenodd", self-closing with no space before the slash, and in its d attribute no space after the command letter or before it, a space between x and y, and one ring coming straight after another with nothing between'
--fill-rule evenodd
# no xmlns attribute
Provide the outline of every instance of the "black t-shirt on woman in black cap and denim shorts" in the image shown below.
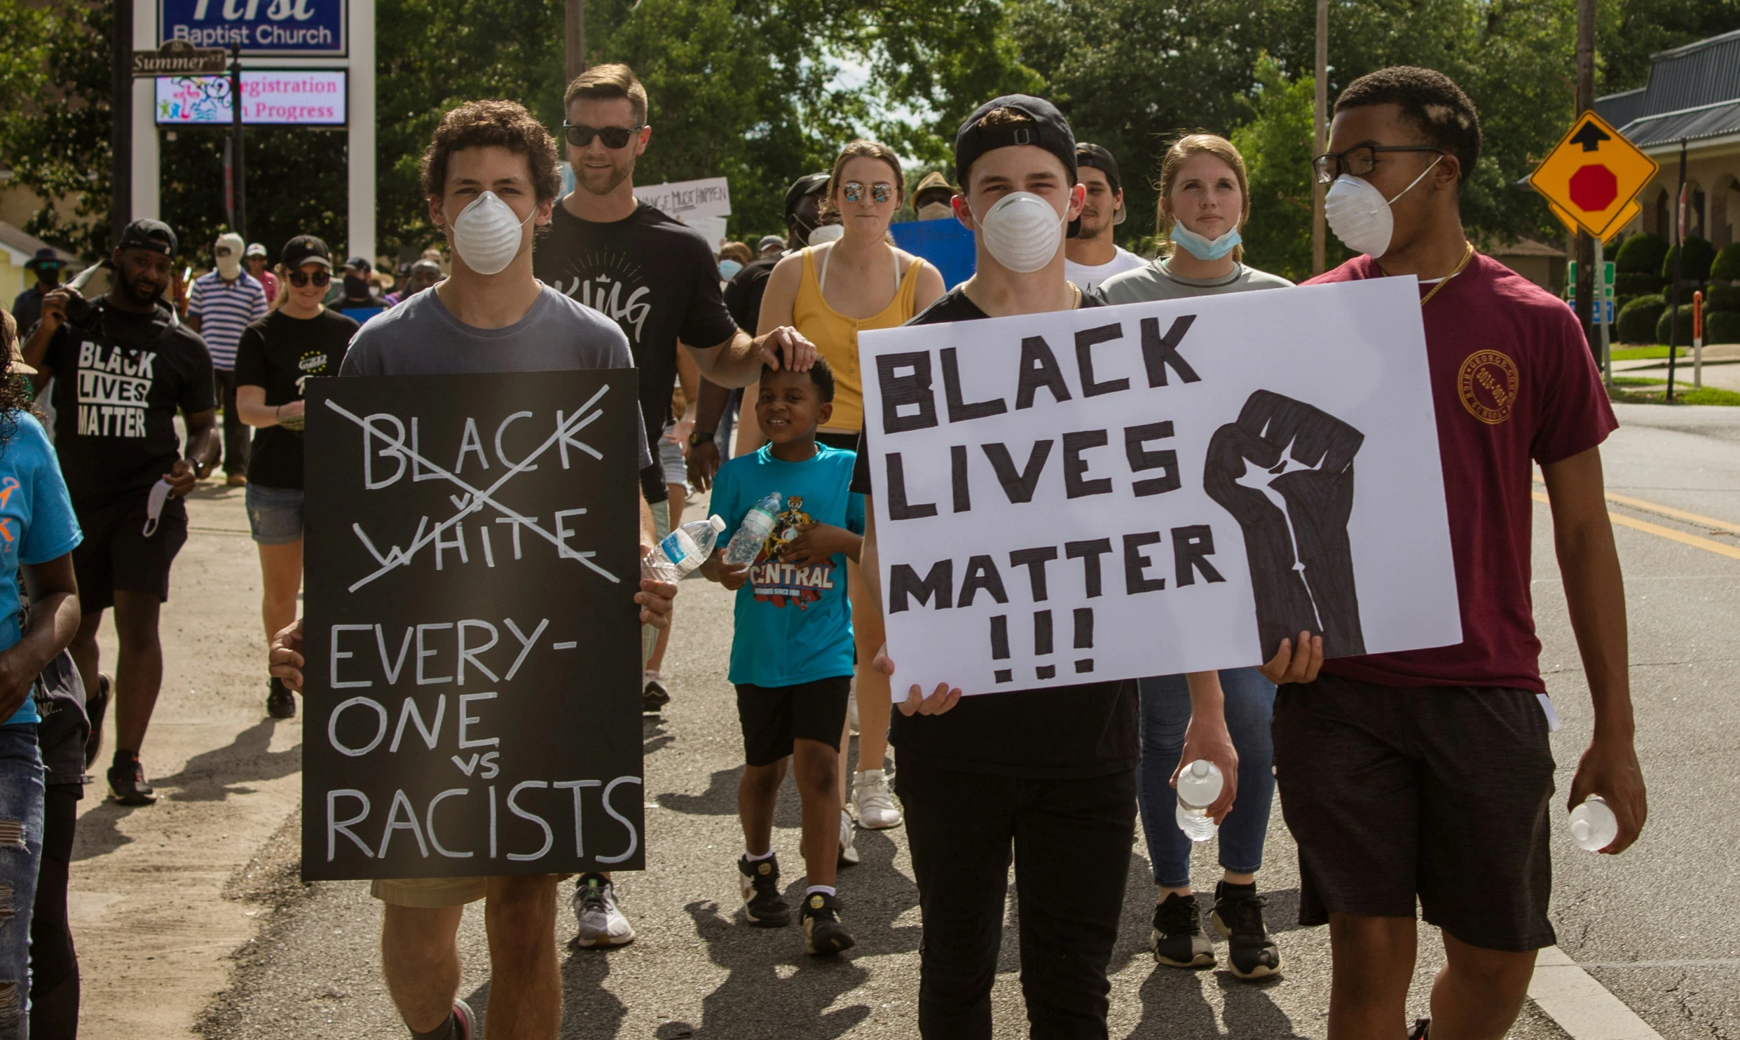
<svg viewBox="0 0 1740 1040"><path fill-rule="evenodd" d="M304 383L338 376L357 334L357 322L331 310L313 318L271 311L242 330L235 348L235 384L266 390L266 407L303 400ZM247 482L261 487L303 487L303 431L266 426L254 431Z"/></svg>

